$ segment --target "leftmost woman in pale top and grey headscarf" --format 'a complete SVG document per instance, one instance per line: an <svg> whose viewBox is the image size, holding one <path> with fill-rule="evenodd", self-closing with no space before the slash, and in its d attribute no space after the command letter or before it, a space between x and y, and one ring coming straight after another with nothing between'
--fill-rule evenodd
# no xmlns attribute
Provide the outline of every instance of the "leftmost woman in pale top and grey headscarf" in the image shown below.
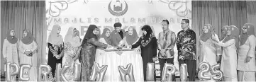
<svg viewBox="0 0 256 82"><path fill-rule="evenodd" d="M4 64L8 62L18 64L18 38L15 37L13 29L9 29L6 33L6 39L3 43L3 57ZM11 71L14 69L11 68ZM16 76L11 76L11 81L16 81Z"/></svg>

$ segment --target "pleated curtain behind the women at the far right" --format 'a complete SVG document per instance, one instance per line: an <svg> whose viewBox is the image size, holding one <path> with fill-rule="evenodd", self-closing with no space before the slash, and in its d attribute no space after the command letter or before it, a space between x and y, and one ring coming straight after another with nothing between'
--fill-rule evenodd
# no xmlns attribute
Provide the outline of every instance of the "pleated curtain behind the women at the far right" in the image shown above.
<svg viewBox="0 0 256 82"><path fill-rule="evenodd" d="M213 25L218 37L224 25L235 25L239 30L245 23L256 27L256 1L192 1L192 29L197 42L206 23Z"/></svg>

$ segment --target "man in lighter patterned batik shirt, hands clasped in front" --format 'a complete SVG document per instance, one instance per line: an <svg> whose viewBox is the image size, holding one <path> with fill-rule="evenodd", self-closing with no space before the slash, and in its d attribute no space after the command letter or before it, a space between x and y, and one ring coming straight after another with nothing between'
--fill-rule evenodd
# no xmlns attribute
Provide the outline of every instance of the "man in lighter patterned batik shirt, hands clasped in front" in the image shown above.
<svg viewBox="0 0 256 82"><path fill-rule="evenodd" d="M159 33L158 37L158 44L157 49L158 52L158 58L160 63L160 76L162 78L162 69L165 66L165 62L169 64L174 64L174 46L176 43L176 36L175 33L169 30L169 21L163 20L162 21L162 32ZM172 81L176 81L175 75L172 76Z"/></svg>

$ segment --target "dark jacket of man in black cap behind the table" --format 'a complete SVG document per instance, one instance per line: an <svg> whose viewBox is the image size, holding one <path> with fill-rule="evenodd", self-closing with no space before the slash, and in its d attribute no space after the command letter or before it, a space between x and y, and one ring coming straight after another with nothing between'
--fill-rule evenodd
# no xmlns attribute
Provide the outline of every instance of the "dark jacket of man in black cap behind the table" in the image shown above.
<svg viewBox="0 0 256 82"><path fill-rule="evenodd" d="M126 35L126 31L125 30L121 30L123 32L123 38ZM116 30L113 30L111 33L111 43L113 47L116 47L119 45L119 42L123 40L122 37L119 35L119 33Z"/></svg>

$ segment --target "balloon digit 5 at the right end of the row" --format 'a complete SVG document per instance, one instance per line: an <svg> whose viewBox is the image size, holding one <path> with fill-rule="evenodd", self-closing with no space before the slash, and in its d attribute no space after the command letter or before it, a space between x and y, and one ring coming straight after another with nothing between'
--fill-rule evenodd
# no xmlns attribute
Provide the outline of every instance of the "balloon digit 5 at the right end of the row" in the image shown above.
<svg viewBox="0 0 256 82"><path fill-rule="evenodd" d="M220 64L216 64L211 66L211 74L213 75L213 80L221 80L221 78L223 78L223 72L220 69Z"/></svg>

